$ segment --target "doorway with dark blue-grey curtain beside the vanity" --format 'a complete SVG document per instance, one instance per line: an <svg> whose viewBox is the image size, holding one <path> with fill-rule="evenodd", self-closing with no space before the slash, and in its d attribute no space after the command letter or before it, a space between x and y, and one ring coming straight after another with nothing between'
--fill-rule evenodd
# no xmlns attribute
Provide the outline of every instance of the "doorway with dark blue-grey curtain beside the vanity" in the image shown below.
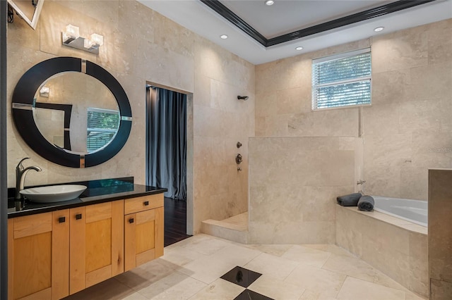
<svg viewBox="0 0 452 300"><path fill-rule="evenodd" d="M165 187L165 246L187 235L187 95L146 86L146 185Z"/></svg>

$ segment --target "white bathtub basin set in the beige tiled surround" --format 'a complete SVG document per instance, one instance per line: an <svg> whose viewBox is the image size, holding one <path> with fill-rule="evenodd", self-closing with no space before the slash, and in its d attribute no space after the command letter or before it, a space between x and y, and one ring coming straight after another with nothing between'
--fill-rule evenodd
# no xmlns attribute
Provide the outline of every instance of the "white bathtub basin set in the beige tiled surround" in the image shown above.
<svg viewBox="0 0 452 300"><path fill-rule="evenodd" d="M427 201L372 196L374 210L427 227Z"/></svg>

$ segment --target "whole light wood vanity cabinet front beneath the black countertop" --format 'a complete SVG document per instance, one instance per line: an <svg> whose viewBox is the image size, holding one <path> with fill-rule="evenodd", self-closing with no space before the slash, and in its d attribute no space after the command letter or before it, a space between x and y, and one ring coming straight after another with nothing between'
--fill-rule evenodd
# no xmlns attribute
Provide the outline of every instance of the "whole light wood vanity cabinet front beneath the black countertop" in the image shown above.
<svg viewBox="0 0 452 300"><path fill-rule="evenodd" d="M163 255L163 194L8 219L8 300L61 299Z"/></svg>

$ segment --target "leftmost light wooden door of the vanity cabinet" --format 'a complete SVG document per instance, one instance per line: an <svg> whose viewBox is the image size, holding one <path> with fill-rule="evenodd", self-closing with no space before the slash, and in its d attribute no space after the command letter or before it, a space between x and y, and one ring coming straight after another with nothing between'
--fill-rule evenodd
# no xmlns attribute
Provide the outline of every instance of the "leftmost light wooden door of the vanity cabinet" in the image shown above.
<svg viewBox="0 0 452 300"><path fill-rule="evenodd" d="M69 295L69 210L8 219L8 299Z"/></svg>

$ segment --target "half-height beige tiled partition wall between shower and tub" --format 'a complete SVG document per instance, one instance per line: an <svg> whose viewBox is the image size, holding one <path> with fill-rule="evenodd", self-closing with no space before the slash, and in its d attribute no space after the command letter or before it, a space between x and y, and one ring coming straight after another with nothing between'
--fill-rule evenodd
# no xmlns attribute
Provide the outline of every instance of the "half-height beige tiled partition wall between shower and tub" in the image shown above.
<svg viewBox="0 0 452 300"><path fill-rule="evenodd" d="M353 192L354 137L249 140L249 244L334 244L335 199Z"/></svg>

